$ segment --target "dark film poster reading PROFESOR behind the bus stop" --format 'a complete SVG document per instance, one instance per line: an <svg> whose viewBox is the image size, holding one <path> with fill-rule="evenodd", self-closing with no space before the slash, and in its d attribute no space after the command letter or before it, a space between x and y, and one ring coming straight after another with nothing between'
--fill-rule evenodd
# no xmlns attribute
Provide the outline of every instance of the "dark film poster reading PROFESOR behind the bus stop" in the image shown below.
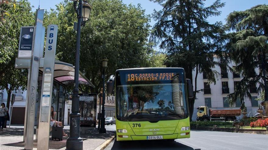
<svg viewBox="0 0 268 150"><path fill-rule="evenodd" d="M96 127L97 94L79 94L80 126Z"/></svg>

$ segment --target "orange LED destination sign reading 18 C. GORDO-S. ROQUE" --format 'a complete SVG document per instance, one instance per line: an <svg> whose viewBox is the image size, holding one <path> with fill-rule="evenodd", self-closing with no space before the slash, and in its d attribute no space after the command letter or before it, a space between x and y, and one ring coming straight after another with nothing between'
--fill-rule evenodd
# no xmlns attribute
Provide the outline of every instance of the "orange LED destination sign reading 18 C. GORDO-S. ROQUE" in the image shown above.
<svg viewBox="0 0 268 150"><path fill-rule="evenodd" d="M126 74L126 82L136 81L165 81L172 80L176 73L163 72L163 73L129 73Z"/></svg>

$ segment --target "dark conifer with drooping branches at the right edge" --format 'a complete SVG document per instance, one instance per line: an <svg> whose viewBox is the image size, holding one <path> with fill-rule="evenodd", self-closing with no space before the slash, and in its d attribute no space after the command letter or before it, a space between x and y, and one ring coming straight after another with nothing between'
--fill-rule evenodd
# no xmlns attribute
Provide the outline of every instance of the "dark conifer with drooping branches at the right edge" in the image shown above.
<svg viewBox="0 0 268 150"><path fill-rule="evenodd" d="M237 64L234 72L242 73L243 79L228 95L228 102L234 105L237 98L245 108L244 98L250 98L250 85L259 84L257 92L264 91L263 72L267 69L268 54L268 5L256 5L245 11L234 11L227 16L227 34L225 45L229 60ZM257 71L257 69L259 71ZM266 74L267 76L267 74ZM267 82L267 81L266 81Z"/></svg>

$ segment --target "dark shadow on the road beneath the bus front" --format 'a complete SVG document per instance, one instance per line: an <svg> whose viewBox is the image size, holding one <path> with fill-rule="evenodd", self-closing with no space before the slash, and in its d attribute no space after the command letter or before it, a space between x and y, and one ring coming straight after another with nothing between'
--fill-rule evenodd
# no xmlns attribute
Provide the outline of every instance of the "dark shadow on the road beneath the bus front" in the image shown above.
<svg viewBox="0 0 268 150"><path fill-rule="evenodd" d="M128 149L128 150L140 150L140 149L146 149L146 150L200 150L200 149L194 149L192 147L189 147L187 145L181 144L179 142L170 142L165 140L152 140L152 141L122 141L118 142L115 139L115 142L111 148L111 150L117 150L117 149Z"/></svg>

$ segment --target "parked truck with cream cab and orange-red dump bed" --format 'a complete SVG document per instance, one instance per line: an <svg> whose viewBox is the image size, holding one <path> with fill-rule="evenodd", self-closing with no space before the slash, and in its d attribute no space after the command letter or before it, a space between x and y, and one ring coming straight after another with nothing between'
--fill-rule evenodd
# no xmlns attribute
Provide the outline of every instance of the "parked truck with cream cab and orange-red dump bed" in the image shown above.
<svg viewBox="0 0 268 150"><path fill-rule="evenodd" d="M241 109L211 110L207 106L197 107L197 121L235 121Z"/></svg>

